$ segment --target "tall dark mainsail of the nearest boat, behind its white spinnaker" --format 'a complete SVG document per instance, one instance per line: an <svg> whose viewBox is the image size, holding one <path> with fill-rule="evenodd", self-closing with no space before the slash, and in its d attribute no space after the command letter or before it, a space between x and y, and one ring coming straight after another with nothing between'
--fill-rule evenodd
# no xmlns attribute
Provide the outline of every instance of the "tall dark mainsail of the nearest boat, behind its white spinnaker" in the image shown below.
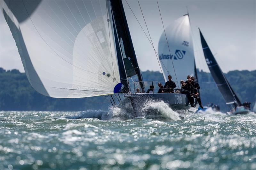
<svg viewBox="0 0 256 170"><path fill-rule="evenodd" d="M122 0L110 0L113 18L115 19L118 40L120 42L121 52L123 53L124 67L127 77L137 74L140 81L140 88L144 93L144 83L140 68L132 44L132 38L124 13Z"/></svg>

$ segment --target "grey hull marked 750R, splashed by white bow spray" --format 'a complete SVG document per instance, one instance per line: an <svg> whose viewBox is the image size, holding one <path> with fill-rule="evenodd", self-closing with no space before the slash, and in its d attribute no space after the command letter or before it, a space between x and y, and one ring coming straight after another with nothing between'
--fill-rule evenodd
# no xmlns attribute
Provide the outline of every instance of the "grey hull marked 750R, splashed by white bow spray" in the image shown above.
<svg viewBox="0 0 256 170"><path fill-rule="evenodd" d="M117 105L132 117L164 118L161 109L170 112L188 109L188 98L179 93L137 93L126 95L126 98ZM159 108L154 103L160 103ZM153 106L152 106L153 105Z"/></svg>

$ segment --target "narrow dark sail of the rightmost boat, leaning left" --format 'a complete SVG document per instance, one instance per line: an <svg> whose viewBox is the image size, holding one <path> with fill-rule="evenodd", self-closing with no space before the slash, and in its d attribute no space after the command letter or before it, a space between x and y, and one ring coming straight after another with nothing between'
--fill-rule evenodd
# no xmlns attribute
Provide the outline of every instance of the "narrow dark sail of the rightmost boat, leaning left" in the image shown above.
<svg viewBox="0 0 256 170"><path fill-rule="evenodd" d="M199 32L200 32L200 38L201 38L201 43L202 43L206 63L209 67L209 70L212 74L212 77L216 85L220 90L220 93L222 94L224 100L226 101L226 104L233 104L234 102L236 102L238 105L241 105L240 100L238 99L235 92L229 85L228 80L226 79L223 72L221 71L219 64L216 62L214 56L212 55L212 52L209 46L207 45L200 29L199 29Z"/></svg>

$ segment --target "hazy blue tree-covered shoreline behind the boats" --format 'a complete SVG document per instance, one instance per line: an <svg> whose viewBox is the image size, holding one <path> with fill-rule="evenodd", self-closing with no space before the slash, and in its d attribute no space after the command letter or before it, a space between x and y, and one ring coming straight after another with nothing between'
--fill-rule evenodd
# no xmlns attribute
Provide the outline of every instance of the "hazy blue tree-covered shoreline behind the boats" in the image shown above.
<svg viewBox="0 0 256 170"><path fill-rule="evenodd" d="M162 74L158 71L144 71L142 75L144 81L163 80ZM249 101L252 104L255 102L256 70L229 71L226 77L241 102ZM198 70L198 79L203 105L212 102L220 105L221 110L228 110L211 74ZM155 87L155 91L157 89L158 87ZM107 110L110 105L109 97L106 96L78 99L57 99L44 96L32 88L25 73L20 73L15 69L6 71L0 68L0 110Z"/></svg>

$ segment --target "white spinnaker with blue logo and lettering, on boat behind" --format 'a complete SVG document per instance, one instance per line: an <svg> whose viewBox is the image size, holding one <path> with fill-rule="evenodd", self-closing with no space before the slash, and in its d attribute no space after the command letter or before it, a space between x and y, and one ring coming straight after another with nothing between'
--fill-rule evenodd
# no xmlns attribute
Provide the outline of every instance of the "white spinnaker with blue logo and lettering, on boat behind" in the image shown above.
<svg viewBox="0 0 256 170"><path fill-rule="evenodd" d="M195 59L188 15L184 15L175 20L165 28L165 32L171 55L164 32L162 33L158 43L158 55L164 72L164 79L167 81L167 77L170 74L172 76L172 80L177 83L172 66L173 61L177 80L180 85L180 80L186 80L188 75L194 75Z"/></svg>

